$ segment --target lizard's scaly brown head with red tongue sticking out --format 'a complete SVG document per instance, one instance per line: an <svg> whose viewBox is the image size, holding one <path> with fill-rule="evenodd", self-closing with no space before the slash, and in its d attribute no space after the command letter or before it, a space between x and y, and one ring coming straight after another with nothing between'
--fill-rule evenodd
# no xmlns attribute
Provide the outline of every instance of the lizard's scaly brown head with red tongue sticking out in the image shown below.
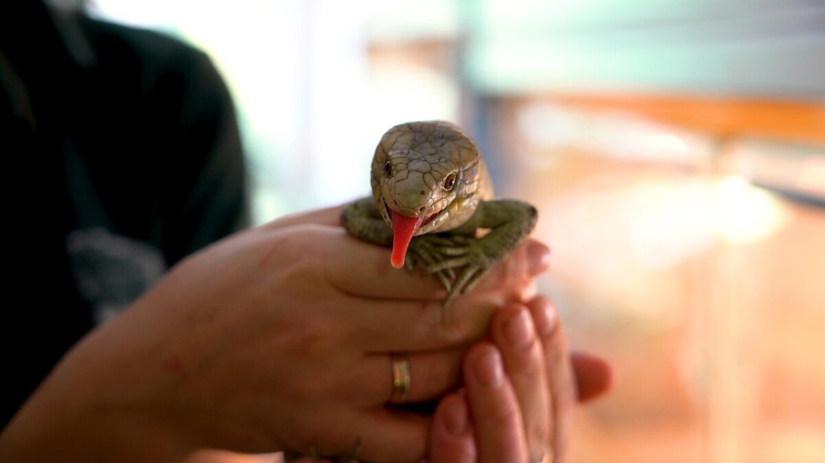
<svg viewBox="0 0 825 463"><path fill-rule="evenodd" d="M475 212L486 177L479 149L444 121L396 125L381 138L372 161L372 191L393 229L393 267L402 267L413 236L448 231ZM484 188L486 189L486 188Z"/></svg>

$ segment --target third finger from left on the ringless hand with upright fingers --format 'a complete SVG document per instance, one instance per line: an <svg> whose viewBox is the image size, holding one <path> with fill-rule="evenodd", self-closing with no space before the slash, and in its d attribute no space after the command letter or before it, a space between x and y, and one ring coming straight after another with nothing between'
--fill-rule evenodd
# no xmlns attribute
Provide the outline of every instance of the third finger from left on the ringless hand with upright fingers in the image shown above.
<svg viewBox="0 0 825 463"><path fill-rule="evenodd" d="M498 310L493 315L492 332L516 392L530 456L535 461L548 451L550 440L551 404L543 345L523 304L511 303Z"/></svg>

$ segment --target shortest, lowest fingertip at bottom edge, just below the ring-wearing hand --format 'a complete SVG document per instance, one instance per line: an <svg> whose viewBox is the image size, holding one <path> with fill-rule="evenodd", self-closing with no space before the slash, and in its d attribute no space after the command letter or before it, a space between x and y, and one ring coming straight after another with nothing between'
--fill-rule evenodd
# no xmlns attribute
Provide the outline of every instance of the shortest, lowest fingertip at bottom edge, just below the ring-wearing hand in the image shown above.
<svg viewBox="0 0 825 463"><path fill-rule="evenodd" d="M467 400L447 394L432 417L429 463L476 463L478 453L470 426Z"/></svg>

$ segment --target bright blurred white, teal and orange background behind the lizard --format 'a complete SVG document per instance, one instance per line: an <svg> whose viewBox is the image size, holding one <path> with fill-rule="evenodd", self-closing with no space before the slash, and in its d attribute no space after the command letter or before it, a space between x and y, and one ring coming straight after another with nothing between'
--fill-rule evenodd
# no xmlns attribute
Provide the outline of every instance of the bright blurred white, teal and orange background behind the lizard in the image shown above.
<svg viewBox="0 0 825 463"><path fill-rule="evenodd" d="M573 462L825 461L822 0L95 0L210 54L257 223L445 119L540 210L540 291L618 378Z"/></svg>

